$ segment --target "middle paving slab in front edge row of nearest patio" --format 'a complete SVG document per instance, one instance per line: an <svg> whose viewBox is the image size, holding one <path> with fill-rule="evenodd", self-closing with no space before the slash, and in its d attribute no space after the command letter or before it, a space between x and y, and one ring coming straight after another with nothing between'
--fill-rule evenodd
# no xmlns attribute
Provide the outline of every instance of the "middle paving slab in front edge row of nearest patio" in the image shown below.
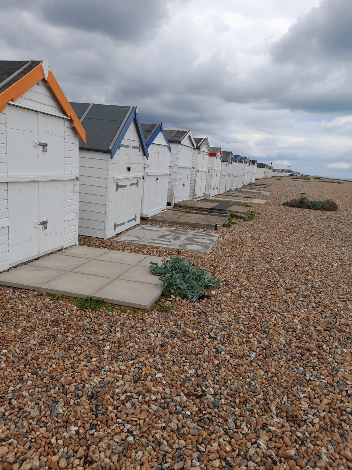
<svg viewBox="0 0 352 470"><path fill-rule="evenodd" d="M51 292L52 294L86 298L112 280L113 278L110 277L69 272L55 277L55 279L45 284L41 284L38 290L41 292Z"/></svg>

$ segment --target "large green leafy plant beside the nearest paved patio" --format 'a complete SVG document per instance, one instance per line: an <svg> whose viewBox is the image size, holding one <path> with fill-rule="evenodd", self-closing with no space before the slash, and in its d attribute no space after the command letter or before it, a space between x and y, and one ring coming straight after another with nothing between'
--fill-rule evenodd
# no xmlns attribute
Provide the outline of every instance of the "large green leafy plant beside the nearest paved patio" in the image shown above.
<svg viewBox="0 0 352 470"><path fill-rule="evenodd" d="M220 282L204 269L195 269L189 259L172 256L163 260L161 266L150 263L150 272L162 282L164 296L179 295L193 301L202 296L206 289L214 289Z"/></svg>

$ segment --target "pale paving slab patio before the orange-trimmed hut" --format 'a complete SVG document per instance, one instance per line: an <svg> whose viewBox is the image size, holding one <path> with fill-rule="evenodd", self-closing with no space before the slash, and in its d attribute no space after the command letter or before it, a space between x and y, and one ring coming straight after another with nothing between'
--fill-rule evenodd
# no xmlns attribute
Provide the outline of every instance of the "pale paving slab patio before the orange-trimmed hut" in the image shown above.
<svg viewBox="0 0 352 470"><path fill-rule="evenodd" d="M154 234L159 232L154 230ZM0 285L99 298L111 304L147 310L161 295L161 282L150 274L149 263L160 265L162 259L75 246L0 273Z"/></svg>

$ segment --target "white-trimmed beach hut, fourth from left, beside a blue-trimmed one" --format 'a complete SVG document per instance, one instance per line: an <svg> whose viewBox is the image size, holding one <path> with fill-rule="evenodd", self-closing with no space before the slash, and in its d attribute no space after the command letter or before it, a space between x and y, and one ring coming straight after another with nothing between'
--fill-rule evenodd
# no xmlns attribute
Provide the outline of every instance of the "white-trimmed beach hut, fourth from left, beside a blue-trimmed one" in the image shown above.
<svg viewBox="0 0 352 470"><path fill-rule="evenodd" d="M191 131L165 129L171 146L168 177L168 204L173 205L190 198L193 149L196 143Z"/></svg>

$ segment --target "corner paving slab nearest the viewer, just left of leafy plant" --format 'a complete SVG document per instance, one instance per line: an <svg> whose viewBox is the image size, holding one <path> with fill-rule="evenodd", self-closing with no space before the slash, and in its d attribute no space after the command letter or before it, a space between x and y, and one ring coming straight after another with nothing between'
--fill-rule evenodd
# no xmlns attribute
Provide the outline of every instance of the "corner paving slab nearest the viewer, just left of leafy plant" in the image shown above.
<svg viewBox="0 0 352 470"><path fill-rule="evenodd" d="M148 310L160 296L161 286L116 279L95 292L92 298L102 299L109 304L127 305Z"/></svg>

